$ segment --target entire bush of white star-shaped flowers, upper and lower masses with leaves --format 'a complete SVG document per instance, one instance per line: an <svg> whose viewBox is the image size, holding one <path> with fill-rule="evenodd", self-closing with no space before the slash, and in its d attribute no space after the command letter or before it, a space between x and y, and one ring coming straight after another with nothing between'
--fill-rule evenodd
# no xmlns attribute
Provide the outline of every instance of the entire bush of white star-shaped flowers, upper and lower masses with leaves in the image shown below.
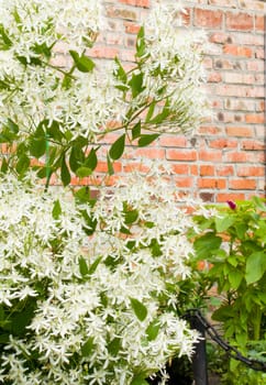
<svg viewBox="0 0 266 385"><path fill-rule="evenodd" d="M191 223L162 167L112 188L90 176L106 134L108 173L126 141L152 143L202 120L202 35L162 1L135 62L89 56L101 1L0 0L0 384L144 385L198 336L178 318ZM68 65L57 62L64 47ZM48 189L57 174L64 188ZM46 178L46 186L38 183Z"/></svg>

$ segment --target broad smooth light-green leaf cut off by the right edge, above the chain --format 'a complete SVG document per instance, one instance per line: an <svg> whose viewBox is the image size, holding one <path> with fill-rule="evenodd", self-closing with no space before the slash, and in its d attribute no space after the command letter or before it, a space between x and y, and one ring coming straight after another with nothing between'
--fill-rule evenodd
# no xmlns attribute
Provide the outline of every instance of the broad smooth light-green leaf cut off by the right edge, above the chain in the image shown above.
<svg viewBox="0 0 266 385"><path fill-rule="evenodd" d="M258 282L266 272L266 253L264 251L252 253L246 261L245 278L247 285Z"/></svg>

